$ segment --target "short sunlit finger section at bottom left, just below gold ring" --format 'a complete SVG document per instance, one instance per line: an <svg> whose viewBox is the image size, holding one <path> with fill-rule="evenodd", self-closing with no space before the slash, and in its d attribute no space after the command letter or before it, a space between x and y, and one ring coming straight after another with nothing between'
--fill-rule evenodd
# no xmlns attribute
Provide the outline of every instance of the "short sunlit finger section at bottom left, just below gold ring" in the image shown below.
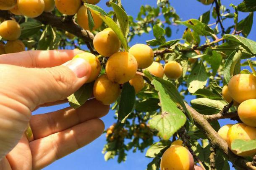
<svg viewBox="0 0 256 170"><path fill-rule="evenodd" d="M6 155L12 170L31 170L32 155L29 148L29 141L23 135L18 144ZM0 170L2 170L0 168ZM3 169L5 170L5 169Z"/></svg>

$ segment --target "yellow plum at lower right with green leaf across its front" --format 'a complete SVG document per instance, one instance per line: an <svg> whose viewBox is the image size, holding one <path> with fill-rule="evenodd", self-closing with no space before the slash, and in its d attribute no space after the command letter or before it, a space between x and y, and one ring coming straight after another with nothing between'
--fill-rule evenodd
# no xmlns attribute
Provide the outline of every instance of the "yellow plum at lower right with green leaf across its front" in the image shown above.
<svg viewBox="0 0 256 170"><path fill-rule="evenodd" d="M243 123L234 124L227 132L227 144L231 149L231 143L233 140L254 140L256 139L256 128L247 126ZM237 154L235 150L232 152L238 156L251 157L256 154L256 150L250 150Z"/></svg>

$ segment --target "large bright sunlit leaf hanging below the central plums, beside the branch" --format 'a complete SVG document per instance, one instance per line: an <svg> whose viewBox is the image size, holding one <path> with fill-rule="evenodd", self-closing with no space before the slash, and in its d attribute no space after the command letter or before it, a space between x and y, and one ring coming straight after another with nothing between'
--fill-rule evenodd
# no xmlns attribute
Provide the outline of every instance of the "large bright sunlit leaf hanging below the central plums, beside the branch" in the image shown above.
<svg viewBox="0 0 256 170"><path fill-rule="evenodd" d="M165 80L162 80L165 81ZM167 81L168 82L168 81ZM170 88L155 79L152 81L155 89L159 92L162 114L154 116L149 120L149 126L158 130L158 135L164 140L170 139L186 122L183 112L178 109L177 104L172 101Z"/></svg>

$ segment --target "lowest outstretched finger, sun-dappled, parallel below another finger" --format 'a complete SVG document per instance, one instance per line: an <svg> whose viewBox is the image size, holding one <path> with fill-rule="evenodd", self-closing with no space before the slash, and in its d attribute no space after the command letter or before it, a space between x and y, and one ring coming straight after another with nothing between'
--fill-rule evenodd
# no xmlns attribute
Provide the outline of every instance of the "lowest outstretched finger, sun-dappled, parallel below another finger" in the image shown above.
<svg viewBox="0 0 256 170"><path fill-rule="evenodd" d="M103 131L104 123L99 119L92 119L30 142L32 169L42 169L55 160L78 150L99 137Z"/></svg>

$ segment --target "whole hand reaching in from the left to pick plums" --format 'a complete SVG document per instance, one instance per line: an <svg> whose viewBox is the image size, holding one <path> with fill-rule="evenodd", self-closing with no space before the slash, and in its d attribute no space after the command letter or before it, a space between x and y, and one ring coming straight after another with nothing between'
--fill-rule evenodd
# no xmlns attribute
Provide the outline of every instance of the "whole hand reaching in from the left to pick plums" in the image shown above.
<svg viewBox="0 0 256 170"><path fill-rule="evenodd" d="M89 144L104 131L109 106L91 99L31 116L42 106L65 103L88 79L89 63L70 61L82 51L25 51L0 56L0 170L39 170ZM31 126L34 139L24 135ZM84 153L86 155L86 153Z"/></svg>

